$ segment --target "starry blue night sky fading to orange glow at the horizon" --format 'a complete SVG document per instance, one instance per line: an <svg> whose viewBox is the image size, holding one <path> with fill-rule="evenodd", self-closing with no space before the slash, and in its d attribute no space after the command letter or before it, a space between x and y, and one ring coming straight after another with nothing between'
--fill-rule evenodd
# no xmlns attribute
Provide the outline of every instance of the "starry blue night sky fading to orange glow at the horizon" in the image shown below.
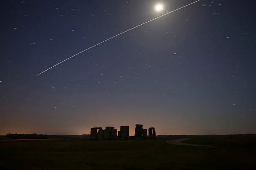
<svg viewBox="0 0 256 170"><path fill-rule="evenodd" d="M256 133L254 0L1 2L0 134Z"/></svg>

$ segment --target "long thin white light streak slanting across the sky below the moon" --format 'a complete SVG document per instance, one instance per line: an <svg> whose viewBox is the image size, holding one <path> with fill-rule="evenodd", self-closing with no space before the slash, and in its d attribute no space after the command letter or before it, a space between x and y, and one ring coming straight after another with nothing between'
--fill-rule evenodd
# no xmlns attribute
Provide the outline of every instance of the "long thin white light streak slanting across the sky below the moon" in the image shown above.
<svg viewBox="0 0 256 170"><path fill-rule="evenodd" d="M54 68L55 66L61 64L62 62L65 62L65 61L67 61L67 60L73 58L74 56L77 56L78 54L81 54L82 52L87 51L88 49L91 49L91 48L93 48L93 47L95 47L95 46L98 46L98 45L100 45L100 44L103 43L103 42L106 42L106 41L108 41L108 40L110 40L110 39L113 39L113 38L115 38L116 36L120 36L121 34L124 34L124 33L128 32L128 31L131 31L132 29L135 29L135 28L137 28L137 27L139 27L139 26L142 26L142 25L144 25L144 24L146 24L146 23L149 23L149 22L151 22L151 21L153 21L153 20L156 20L156 19L158 19L158 18L160 18L160 17L162 17L162 16L168 15L169 13L173 13L173 12L175 12L175 11L177 11L177 10L180 10L180 9L182 9L182 8L185 8L185 7L189 6L189 5L192 5L193 3L197 3L197 2L199 2L199 1L200 1L200 0L197 0L197 1L195 1L195 2L189 3L189 4L187 4L187 5L183 6L183 7L180 7L180 8L178 8L178 9L176 9L176 10L173 10L173 11L171 11L171 12L165 13L165 14L163 14L163 15L161 15L161 16L158 16L158 17L156 17L156 18L154 18L154 19L152 19L152 20L149 20L149 21L147 21L147 22L145 22L145 23L141 23L141 24L138 25L138 26L132 27L132 28L127 29L126 31L124 31L124 32L122 32L122 33L119 33L119 34L117 34L117 35L115 35L115 36L112 36L112 37L110 37L110 38L108 38L108 39L105 39L104 41L99 42L98 44L95 44L94 46L91 46L91 47L89 47L89 48L87 48L87 49L84 49L83 51L78 52L78 53L74 54L73 56L68 57L67 59L64 59L63 61L61 61L61 62L59 62L59 63L57 63L57 64L51 66L50 68L44 70L43 72L40 72L38 75L41 75L41 74L43 74L44 72L47 72L48 70L50 70L50 69ZM36 75L36 77L37 77L38 75Z"/></svg>

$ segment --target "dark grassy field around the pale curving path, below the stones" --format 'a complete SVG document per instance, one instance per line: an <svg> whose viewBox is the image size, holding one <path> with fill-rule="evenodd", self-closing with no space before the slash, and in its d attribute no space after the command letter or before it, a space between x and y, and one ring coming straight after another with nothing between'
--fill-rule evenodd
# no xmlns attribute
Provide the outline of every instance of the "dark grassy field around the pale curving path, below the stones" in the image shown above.
<svg viewBox="0 0 256 170"><path fill-rule="evenodd" d="M187 136L184 136L187 137ZM5 141L1 170L256 170L256 135L202 136L191 147L155 140Z"/></svg>

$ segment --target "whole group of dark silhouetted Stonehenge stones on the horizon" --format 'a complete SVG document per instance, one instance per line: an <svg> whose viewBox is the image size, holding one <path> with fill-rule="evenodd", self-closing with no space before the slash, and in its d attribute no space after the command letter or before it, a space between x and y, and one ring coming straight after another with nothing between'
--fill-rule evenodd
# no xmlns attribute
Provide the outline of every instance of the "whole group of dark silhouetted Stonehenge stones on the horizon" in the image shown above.
<svg viewBox="0 0 256 170"><path fill-rule="evenodd" d="M107 126L103 130L102 127L92 127L90 139L91 140L117 140L117 139L129 139L129 126L120 126L120 131L117 131L113 126ZM136 124L135 127L135 136L134 139L155 139L155 127L149 127L147 129L143 129L142 124ZM133 137L131 137L133 139Z"/></svg>

